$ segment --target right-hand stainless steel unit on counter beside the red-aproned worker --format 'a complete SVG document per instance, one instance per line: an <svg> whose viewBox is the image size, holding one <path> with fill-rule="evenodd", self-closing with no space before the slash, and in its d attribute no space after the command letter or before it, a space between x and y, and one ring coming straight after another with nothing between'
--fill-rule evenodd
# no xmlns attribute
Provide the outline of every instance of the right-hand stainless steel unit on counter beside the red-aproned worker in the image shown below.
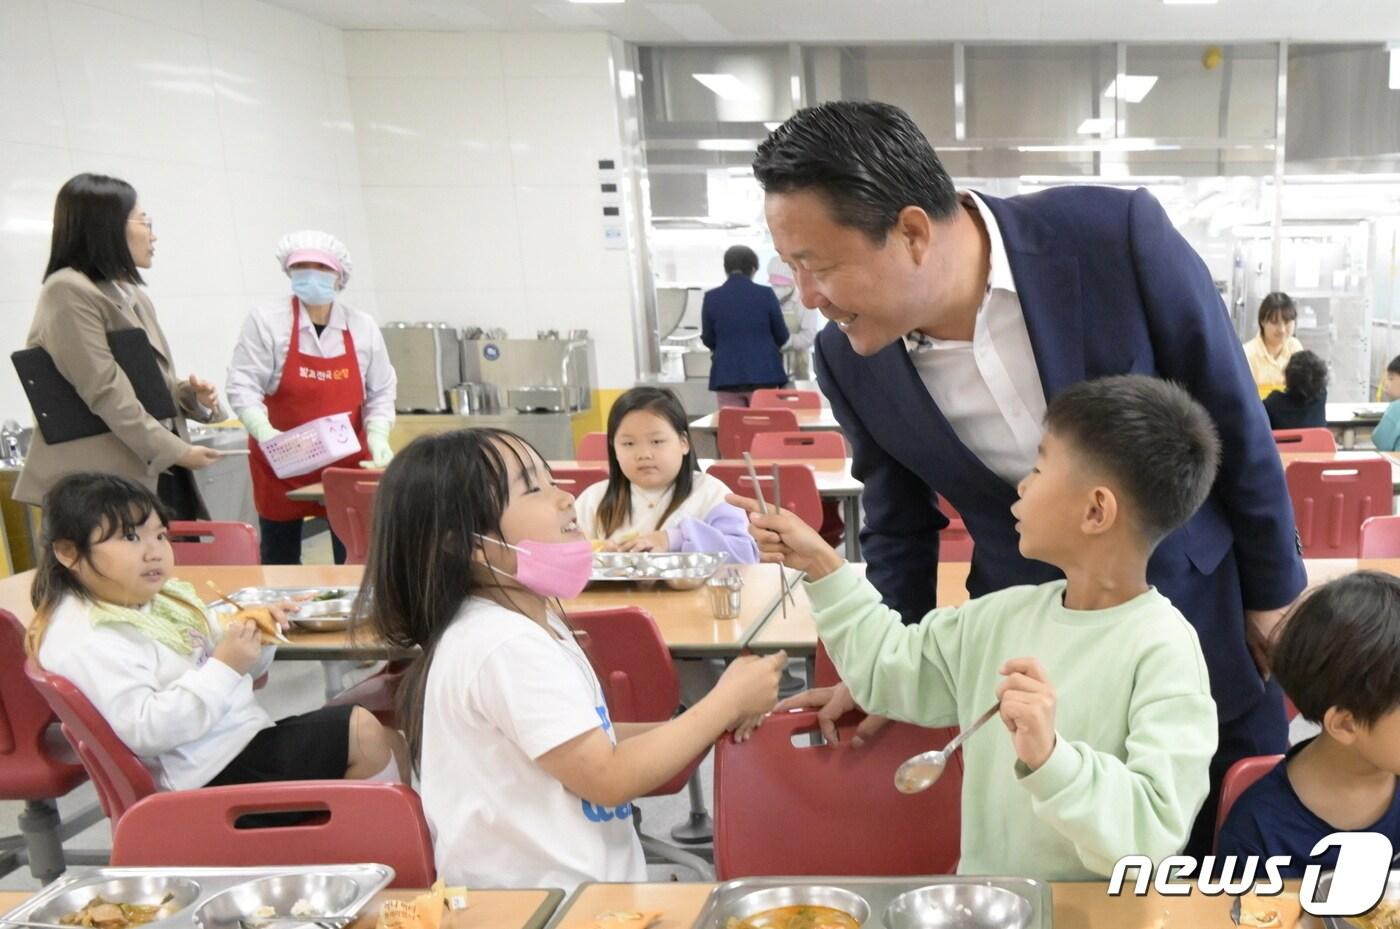
<svg viewBox="0 0 1400 929"><path fill-rule="evenodd" d="M491 385L521 413L592 406L598 364L591 340L480 339L462 343L462 381Z"/></svg>

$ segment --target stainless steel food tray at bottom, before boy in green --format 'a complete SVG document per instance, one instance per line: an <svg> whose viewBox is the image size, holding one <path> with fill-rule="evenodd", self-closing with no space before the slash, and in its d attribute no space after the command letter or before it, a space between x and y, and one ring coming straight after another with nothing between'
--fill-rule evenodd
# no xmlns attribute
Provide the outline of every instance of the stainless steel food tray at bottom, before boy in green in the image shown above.
<svg viewBox="0 0 1400 929"><path fill-rule="evenodd" d="M851 914L861 921L862 929L980 929L984 922L913 922L904 921L907 904L897 911L893 904L910 891L930 891L937 898L935 888L952 887L953 897L976 897L974 891L960 888L988 888L1019 897L1028 908L1021 922L1007 921L990 923L1005 929L1050 929L1051 901L1050 886L1028 877L962 877L955 874L937 877L745 877L720 884L710 891L700 916L692 929L725 929L729 919L743 919L776 907L797 907L809 904L832 907ZM990 894L993 900L1018 911L1014 901ZM916 902L910 897L909 902ZM977 909L969 905L967 918Z"/></svg>

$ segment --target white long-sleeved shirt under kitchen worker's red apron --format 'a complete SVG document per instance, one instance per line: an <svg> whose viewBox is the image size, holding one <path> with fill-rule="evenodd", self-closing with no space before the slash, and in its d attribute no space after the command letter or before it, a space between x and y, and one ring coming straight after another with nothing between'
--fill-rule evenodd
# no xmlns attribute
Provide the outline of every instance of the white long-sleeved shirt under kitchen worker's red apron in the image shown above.
<svg viewBox="0 0 1400 929"><path fill-rule="evenodd" d="M344 332L350 330L354 354L360 362L360 379L364 382L364 418L392 423L399 378L389 364L389 351L384 346L384 334L374 318L336 301L319 336L309 315L302 312L298 319L301 353L311 358L343 355ZM263 397L277 392L290 346L291 298L265 304L248 313L224 385L228 404L235 413L248 407L266 409Z"/></svg>

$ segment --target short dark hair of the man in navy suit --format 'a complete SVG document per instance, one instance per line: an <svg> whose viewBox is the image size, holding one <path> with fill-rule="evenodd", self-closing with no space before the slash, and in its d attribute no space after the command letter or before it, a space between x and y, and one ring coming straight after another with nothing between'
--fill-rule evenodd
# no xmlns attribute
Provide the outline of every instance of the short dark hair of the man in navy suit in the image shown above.
<svg viewBox="0 0 1400 929"><path fill-rule="evenodd" d="M904 207L952 215L958 190L909 113L834 101L799 109L759 146L753 176L769 193L815 190L841 225L881 245Z"/></svg>

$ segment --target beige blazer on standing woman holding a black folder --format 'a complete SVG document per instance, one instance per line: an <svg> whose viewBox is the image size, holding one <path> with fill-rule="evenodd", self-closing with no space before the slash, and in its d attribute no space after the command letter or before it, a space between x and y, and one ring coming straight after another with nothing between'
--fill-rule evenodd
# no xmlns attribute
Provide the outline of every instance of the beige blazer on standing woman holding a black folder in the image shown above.
<svg viewBox="0 0 1400 929"><path fill-rule="evenodd" d="M59 374L112 431L49 445L35 428L14 487L20 502L39 505L49 488L73 471L120 474L154 491L160 473L189 448L185 417L200 423L224 418L223 410L204 410L189 382L176 376L151 299L139 287L123 287L125 294L112 281L94 284L73 269L55 271L43 281L25 347L48 351ZM118 329L146 330L176 409L185 416L161 423L146 413L106 344L106 333Z"/></svg>

